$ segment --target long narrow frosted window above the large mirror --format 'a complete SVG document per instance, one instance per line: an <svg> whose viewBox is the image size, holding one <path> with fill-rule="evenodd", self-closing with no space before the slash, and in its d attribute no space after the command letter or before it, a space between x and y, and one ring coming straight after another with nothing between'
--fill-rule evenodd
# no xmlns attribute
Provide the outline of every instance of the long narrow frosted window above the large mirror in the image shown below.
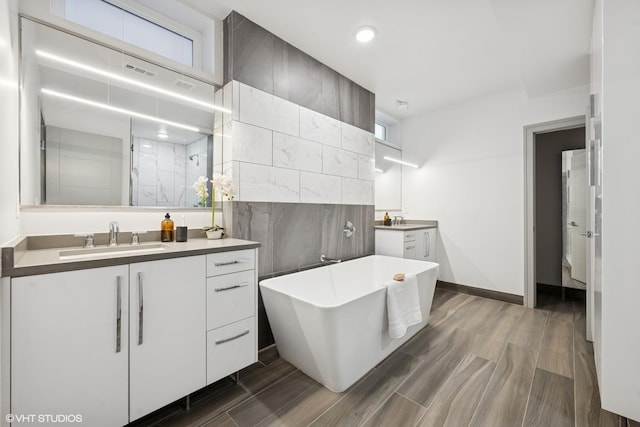
<svg viewBox="0 0 640 427"><path fill-rule="evenodd" d="M66 0L65 18L193 67L193 40L103 0Z"/></svg>

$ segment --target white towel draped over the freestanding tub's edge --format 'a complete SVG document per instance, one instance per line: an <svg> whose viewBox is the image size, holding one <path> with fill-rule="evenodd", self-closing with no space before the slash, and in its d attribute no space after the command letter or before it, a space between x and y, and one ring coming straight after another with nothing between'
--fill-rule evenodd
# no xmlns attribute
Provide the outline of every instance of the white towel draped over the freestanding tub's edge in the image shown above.
<svg viewBox="0 0 640 427"><path fill-rule="evenodd" d="M402 338L407 328L422 322L418 278L415 274L405 276L403 281L387 283L387 313L389 336Z"/></svg>

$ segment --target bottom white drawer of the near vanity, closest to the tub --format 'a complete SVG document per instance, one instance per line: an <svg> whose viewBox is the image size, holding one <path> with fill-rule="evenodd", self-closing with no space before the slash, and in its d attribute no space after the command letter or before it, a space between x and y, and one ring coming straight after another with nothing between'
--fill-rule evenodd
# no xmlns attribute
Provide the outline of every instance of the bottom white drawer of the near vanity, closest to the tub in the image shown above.
<svg viewBox="0 0 640 427"><path fill-rule="evenodd" d="M207 332L207 385L258 361L256 319Z"/></svg>

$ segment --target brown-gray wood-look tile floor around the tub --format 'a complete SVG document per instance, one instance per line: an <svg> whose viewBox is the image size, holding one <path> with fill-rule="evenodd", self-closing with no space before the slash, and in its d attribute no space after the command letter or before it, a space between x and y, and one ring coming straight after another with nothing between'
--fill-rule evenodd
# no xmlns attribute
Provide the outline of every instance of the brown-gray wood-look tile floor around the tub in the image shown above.
<svg viewBox="0 0 640 427"><path fill-rule="evenodd" d="M600 408L585 303L436 290L429 325L343 393L271 347L240 373L130 426L619 426Z"/></svg>

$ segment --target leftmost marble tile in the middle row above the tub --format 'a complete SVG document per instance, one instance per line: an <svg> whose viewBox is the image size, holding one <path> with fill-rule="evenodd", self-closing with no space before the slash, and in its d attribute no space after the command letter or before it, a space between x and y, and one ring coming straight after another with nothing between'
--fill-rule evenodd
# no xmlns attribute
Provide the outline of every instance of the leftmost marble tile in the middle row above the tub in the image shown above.
<svg viewBox="0 0 640 427"><path fill-rule="evenodd" d="M231 126L231 135L225 137L232 147L232 157L228 160L271 166L273 132L236 120L231 122Z"/></svg>

